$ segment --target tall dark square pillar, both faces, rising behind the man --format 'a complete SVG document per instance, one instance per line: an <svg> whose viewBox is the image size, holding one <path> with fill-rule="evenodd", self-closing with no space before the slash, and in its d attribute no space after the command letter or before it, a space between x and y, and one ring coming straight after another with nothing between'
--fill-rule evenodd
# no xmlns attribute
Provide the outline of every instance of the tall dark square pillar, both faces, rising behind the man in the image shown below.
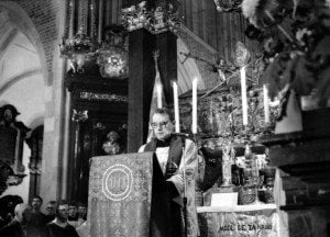
<svg viewBox="0 0 330 237"><path fill-rule="evenodd" d="M170 81L177 80L176 36L172 32L153 35L144 29L129 34L129 143L135 153L145 143L155 81L153 52L158 50L158 68L167 104L173 103Z"/></svg>

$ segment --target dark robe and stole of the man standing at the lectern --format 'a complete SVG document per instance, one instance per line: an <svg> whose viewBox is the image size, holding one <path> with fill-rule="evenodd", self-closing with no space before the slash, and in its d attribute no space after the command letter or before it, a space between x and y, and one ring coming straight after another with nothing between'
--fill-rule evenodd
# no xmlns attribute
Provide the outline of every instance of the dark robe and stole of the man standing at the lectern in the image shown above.
<svg viewBox="0 0 330 237"><path fill-rule="evenodd" d="M170 181L183 154L182 138L173 137L165 142L153 139L146 144L144 151L155 151L157 147L169 147L165 174L158 159L153 158L153 189L151 204L151 237L180 237L183 232L182 207L173 201L179 193ZM175 165L173 165L175 163Z"/></svg>

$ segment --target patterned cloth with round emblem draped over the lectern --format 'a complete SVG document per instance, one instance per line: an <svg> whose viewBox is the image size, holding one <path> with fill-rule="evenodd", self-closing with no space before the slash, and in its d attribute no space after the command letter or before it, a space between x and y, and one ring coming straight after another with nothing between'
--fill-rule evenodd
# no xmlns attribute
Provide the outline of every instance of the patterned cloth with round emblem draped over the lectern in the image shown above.
<svg viewBox="0 0 330 237"><path fill-rule="evenodd" d="M91 159L87 230L92 237L146 237L153 153Z"/></svg>

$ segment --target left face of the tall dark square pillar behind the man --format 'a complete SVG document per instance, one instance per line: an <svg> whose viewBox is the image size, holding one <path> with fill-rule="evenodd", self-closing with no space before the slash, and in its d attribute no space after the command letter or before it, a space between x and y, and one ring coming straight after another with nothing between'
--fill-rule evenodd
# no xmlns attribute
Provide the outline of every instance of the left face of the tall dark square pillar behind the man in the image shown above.
<svg viewBox="0 0 330 237"><path fill-rule="evenodd" d="M150 103L155 80L152 54L154 45L155 35L144 29L129 34L129 153L136 153L147 136Z"/></svg>

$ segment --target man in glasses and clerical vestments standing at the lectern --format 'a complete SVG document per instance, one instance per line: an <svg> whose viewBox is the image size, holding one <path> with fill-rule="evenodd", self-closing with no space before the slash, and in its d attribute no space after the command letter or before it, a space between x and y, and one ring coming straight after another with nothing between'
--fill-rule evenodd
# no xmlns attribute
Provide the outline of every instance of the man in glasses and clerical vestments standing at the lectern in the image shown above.
<svg viewBox="0 0 330 237"><path fill-rule="evenodd" d="M195 206L197 146L188 138L173 134L173 115L157 109L152 115L154 138L139 153L154 151L150 236L185 236L183 198L187 196L187 236L198 236ZM185 171L184 171L185 170Z"/></svg>

